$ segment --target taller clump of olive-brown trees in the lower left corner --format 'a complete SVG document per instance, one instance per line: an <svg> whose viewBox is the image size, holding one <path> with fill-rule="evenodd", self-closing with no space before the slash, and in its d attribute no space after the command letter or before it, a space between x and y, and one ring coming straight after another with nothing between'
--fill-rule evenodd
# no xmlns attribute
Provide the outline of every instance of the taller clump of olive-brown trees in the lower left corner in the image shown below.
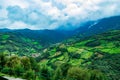
<svg viewBox="0 0 120 80"><path fill-rule="evenodd" d="M0 72L34 80L38 76L39 65L32 57L6 56L0 53Z"/></svg>

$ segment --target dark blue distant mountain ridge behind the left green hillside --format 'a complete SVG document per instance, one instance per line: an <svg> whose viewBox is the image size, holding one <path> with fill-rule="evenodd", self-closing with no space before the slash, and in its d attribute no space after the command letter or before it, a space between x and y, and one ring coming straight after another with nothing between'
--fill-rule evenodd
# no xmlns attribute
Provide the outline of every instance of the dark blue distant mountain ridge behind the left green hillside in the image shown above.
<svg viewBox="0 0 120 80"><path fill-rule="evenodd" d="M1 33L12 32L13 34L18 34L29 39L38 41L41 45L48 46L53 43L63 41L70 36L72 36L72 31L64 30L30 30L30 29L18 29L18 30L9 30L9 29L0 29Z"/></svg>

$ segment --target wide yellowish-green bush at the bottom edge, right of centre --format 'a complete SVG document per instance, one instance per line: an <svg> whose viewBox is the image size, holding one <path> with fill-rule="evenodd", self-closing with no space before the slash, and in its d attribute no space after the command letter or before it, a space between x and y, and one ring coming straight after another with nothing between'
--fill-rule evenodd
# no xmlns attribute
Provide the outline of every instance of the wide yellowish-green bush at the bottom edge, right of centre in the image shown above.
<svg viewBox="0 0 120 80"><path fill-rule="evenodd" d="M106 80L106 77L97 70L72 67L68 70L67 80Z"/></svg>

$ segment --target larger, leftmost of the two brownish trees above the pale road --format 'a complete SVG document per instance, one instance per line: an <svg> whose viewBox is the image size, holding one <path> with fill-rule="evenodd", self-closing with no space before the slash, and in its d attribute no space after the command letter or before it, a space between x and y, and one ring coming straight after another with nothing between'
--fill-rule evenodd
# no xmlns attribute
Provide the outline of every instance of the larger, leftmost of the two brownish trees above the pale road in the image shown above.
<svg viewBox="0 0 120 80"><path fill-rule="evenodd" d="M18 56L11 56L5 65L5 69L3 71L8 71L8 74L21 76L24 72L23 66L21 65L20 58Z"/></svg>

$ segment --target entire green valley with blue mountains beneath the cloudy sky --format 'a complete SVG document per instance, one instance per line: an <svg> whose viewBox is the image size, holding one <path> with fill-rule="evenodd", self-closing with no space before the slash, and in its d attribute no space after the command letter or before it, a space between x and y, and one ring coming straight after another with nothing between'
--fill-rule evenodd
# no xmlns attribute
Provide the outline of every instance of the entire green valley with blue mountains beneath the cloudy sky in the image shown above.
<svg viewBox="0 0 120 80"><path fill-rule="evenodd" d="M120 18L95 22L72 31L0 29L0 76L119 80Z"/></svg>

